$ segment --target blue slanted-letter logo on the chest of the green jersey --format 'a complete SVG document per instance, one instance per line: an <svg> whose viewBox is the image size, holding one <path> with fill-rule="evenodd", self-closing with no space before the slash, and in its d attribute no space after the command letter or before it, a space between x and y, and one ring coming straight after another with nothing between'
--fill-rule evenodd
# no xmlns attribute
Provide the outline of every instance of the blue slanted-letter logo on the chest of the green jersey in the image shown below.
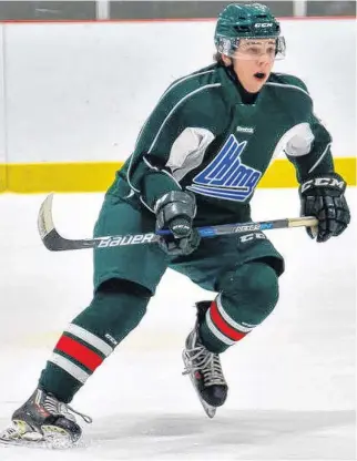
<svg viewBox="0 0 357 461"><path fill-rule="evenodd" d="M231 134L217 156L193 178L187 188L210 197L244 202L253 194L262 176L262 172L241 162L246 145L247 141L239 143Z"/></svg>

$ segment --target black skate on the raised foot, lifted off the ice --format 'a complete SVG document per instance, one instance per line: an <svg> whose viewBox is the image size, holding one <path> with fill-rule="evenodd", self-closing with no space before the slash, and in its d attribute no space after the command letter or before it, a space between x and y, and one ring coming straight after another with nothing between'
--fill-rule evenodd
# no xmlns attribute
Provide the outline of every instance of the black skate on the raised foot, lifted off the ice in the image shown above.
<svg viewBox="0 0 357 461"><path fill-rule="evenodd" d="M216 408L227 398L228 386L223 376L220 355L210 352L201 342L198 334L200 324L210 306L211 301L196 303L197 321L186 339L182 358L185 363L183 375L190 375L206 414L213 418Z"/></svg>

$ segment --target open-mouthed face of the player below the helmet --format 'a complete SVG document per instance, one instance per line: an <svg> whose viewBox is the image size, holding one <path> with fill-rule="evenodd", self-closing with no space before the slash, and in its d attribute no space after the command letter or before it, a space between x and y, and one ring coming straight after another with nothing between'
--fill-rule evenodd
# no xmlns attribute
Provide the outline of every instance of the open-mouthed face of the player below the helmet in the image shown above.
<svg viewBox="0 0 357 461"><path fill-rule="evenodd" d="M267 81L275 61L276 43L272 39L245 39L232 57L233 69L246 91L257 93Z"/></svg>

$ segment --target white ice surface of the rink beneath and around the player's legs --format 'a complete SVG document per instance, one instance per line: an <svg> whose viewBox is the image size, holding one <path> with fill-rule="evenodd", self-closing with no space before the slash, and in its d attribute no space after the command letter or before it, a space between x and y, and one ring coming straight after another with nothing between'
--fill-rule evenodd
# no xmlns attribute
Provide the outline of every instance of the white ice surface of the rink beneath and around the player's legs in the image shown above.
<svg viewBox="0 0 357 461"><path fill-rule="evenodd" d="M85 237L102 194L54 197L58 228ZM353 215L356 189L350 188ZM0 426L33 391L68 322L91 300L91 250L51 253L37 233L44 195L0 195ZM295 189L258 189L255 219L298 216ZM326 244L266 233L285 256L275 311L222 356L230 396L210 420L181 351L193 304L213 297L169 270L149 313L75 396L93 418L65 453L0 448L24 460L351 460L355 451L356 216Z"/></svg>

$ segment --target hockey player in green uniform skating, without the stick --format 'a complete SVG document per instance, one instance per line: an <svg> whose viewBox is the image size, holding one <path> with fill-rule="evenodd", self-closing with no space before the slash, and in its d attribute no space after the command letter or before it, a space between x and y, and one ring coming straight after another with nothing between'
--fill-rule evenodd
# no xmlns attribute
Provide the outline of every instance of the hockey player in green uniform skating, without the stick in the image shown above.
<svg viewBox="0 0 357 461"><path fill-rule="evenodd" d="M285 150L299 182L302 214L318 218L323 243L349 223L346 183L332 139L305 84L272 73L285 53L280 27L258 3L230 4L215 30L216 62L166 90L135 150L109 188L94 234L169 228L160 245L94 250L94 296L68 326L33 395L2 441L75 442L69 402L143 318L167 267L216 294L197 303L183 358L208 416L227 397L220 354L273 311L284 262L261 232L201 239L195 226L247 222L249 201L273 156Z"/></svg>

